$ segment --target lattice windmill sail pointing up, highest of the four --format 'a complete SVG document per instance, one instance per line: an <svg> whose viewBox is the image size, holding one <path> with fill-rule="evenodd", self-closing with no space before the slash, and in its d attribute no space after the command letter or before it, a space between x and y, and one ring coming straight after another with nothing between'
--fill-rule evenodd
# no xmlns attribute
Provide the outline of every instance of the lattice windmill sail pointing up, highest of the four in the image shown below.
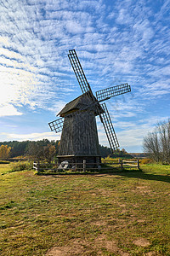
<svg viewBox="0 0 170 256"><path fill-rule="evenodd" d="M91 91L90 85L88 84L88 80L83 72L82 65L77 57L77 53L75 49L69 50L69 60L71 61L71 66L76 74L77 81L80 84L80 88L82 89L82 93Z"/></svg>

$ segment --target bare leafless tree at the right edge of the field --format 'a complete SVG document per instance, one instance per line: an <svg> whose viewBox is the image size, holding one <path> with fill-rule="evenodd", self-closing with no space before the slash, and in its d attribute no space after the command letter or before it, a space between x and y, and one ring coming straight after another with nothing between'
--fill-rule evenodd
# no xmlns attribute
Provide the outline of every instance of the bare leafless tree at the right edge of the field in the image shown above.
<svg viewBox="0 0 170 256"><path fill-rule="evenodd" d="M156 162L170 164L170 119L156 125L155 130L144 137L143 147Z"/></svg>

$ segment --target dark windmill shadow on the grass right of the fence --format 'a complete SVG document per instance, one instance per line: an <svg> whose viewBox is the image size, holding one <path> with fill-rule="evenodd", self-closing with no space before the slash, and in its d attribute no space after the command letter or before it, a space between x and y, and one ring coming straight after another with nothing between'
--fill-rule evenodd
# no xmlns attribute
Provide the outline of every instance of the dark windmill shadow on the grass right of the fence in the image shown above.
<svg viewBox="0 0 170 256"><path fill-rule="evenodd" d="M156 180L165 183L170 183L170 175L150 174L142 171L142 169L140 169L139 171L116 172L115 174L121 177L133 177L144 180Z"/></svg>

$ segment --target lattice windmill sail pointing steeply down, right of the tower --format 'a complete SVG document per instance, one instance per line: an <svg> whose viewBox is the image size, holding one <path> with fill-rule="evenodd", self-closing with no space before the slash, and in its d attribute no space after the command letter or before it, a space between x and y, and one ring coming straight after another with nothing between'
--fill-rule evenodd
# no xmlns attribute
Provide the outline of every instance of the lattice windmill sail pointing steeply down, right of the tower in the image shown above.
<svg viewBox="0 0 170 256"><path fill-rule="evenodd" d="M106 133L106 136L107 136L108 141L110 143L111 150L114 151L114 150L116 150L116 148L119 147L119 143L118 143L118 140L117 140L117 137L116 137L115 130L114 130L113 125L111 123L110 114L107 110L107 107L106 107L105 103L101 104L101 107L103 108L103 110L105 112L100 114L100 119L101 119L101 122L104 125L105 133Z"/></svg>

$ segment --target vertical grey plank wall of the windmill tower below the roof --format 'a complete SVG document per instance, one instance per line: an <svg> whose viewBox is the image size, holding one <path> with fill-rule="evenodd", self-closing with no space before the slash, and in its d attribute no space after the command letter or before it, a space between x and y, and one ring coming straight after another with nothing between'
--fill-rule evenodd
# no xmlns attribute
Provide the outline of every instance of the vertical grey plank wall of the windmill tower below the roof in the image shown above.
<svg viewBox="0 0 170 256"><path fill-rule="evenodd" d="M65 117L59 155L99 155L99 138L94 112Z"/></svg>

